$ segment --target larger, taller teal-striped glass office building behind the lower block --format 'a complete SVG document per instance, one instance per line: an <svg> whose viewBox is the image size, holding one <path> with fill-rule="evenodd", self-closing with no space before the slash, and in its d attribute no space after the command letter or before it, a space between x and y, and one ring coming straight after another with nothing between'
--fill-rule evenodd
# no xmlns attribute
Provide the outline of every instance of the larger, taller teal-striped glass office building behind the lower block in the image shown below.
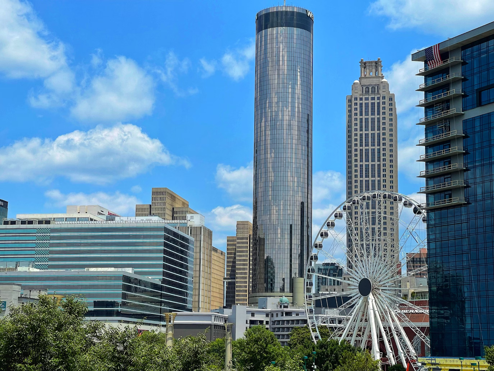
<svg viewBox="0 0 494 371"><path fill-rule="evenodd" d="M86 268L132 269L134 275L142 277L142 284L156 285L162 313L192 310L194 239L162 219L50 220L48 225L22 225L17 219L7 221L15 224L0 226L0 267L5 264L5 267L13 266L10 270L18 270L31 265L41 271L67 274ZM5 283L7 277L2 276L0 283ZM77 286L76 282L74 285ZM90 290L91 285L76 288L79 294L88 295L84 290Z"/></svg>

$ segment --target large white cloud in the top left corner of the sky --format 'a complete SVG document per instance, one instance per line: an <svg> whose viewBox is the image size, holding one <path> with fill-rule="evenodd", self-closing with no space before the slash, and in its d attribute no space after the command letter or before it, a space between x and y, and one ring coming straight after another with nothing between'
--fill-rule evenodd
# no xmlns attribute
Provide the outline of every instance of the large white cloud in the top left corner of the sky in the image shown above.
<svg viewBox="0 0 494 371"><path fill-rule="evenodd" d="M61 105L63 95L73 90L65 46L49 35L28 2L1 3L0 73L11 79L44 79L43 92L30 97L34 106Z"/></svg>

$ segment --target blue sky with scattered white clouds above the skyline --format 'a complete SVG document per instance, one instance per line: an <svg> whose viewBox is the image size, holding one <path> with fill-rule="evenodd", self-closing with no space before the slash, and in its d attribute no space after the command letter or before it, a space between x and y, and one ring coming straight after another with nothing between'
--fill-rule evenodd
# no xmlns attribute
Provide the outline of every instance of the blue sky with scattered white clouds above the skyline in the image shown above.
<svg viewBox="0 0 494 371"><path fill-rule="evenodd" d="M380 57L396 93L399 189L423 110L410 53L494 19L492 1L289 2L314 13L314 229L344 197L345 95ZM278 2L274 3L275 5ZM266 1L0 0L0 198L16 213L134 215L165 186L225 249L251 219L255 13Z"/></svg>

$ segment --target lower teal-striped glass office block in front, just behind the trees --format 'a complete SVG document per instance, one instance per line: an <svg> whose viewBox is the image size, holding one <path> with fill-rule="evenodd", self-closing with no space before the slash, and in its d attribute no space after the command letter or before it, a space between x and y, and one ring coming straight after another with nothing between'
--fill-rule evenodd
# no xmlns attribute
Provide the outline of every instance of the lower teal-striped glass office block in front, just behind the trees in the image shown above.
<svg viewBox="0 0 494 371"><path fill-rule="evenodd" d="M34 269L1 272L0 281L2 285L22 287L24 296L40 288L48 295L75 295L87 304L86 320L110 324L139 323L146 329L162 325L164 313L169 312L169 297L163 292L160 282L136 275L132 269Z"/></svg>

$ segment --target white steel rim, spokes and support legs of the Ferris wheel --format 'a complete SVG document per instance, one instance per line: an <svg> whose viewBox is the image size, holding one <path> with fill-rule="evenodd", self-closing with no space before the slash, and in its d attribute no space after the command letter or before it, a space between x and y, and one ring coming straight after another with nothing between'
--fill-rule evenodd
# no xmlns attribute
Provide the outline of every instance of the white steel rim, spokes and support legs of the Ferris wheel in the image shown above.
<svg viewBox="0 0 494 371"><path fill-rule="evenodd" d="M383 216L387 216L390 218L389 221L397 222L396 227L400 229L405 228L402 233L398 231L399 233L398 251L396 254L398 260L396 260L396 258L393 257L392 264L389 264L390 255L389 252L383 247L385 246L384 243L382 244L379 243L378 249L376 250L376 248L374 247L369 253L367 251L367 239L364 240L366 251L361 252L360 249L354 249L353 252L350 251L350 256L351 256L350 259L354 259L353 254L354 253L356 254L355 255L356 260L353 261L354 264L353 269L348 268L346 264L341 266L341 262L338 261L338 259L333 258L332 255L329 254L329 251L324 251L324 247L322 244L318 245L319 248L316 248L316 243L322 243L324 242L324 239L327 238L327 237L322 238L322 234L321 234L322 232L326 231L328 232L327 233L328 237L329 234L331 234L331 237L333 238L333 244L331 246L332 252L334 252L334 250L337 249L339 246L344 249L343 250L345 254L344 256L348 258L349 250L346 248L346 239L351 237L354 242L357 242L359 244L359 246L363 243L362 243L362 239L360 241L358 239L358 228L357 228L357 233L355 233L355 230L353 229L353 218L349 218L348 210L344 210L343 206L352 205L350 209L351 210L350 216L352 216L353 211L355 210L354 206L356 205L355 203L352 203L353 200L357 199L364 201L360 203L357 202L357 205L359 205L359 210L361 211L361 214L359 216L362 216L362 210L363 208L366 207L365 203L368 200L375 199L377 204L378 200L381 201L384 200L383 195L386 195L387 197L386 199L389 199L390 201L394 201L394 204L397 204L396 207L397 210L394 212L397 213L398 216L394 216L394 214L393 216L389 214L386 215L386 212L383 210L383 203L381 202L380 204L381 214L380 215L378 214L377 212L378 208L376 206L376 212L374 214L374 218L378 218L379 216L380 218L382 218ZM406 204L405 201L408 201L407 206L405 206ZM410 223L408 223L408 225L405 225L405 223L401 221L401 214L405 207L414 208L413 209L414 215L412 216L412 220ZM337 215L336 213L340 213L340 214ZM335 218L336 215L338 216L338 218ZM370 226L369 223L371 219L370 211L368 211L367 214L365 214L365 218L367 219L367 227L369 227ZM425 271L427 269L427 266L425 266L413 270L411 272L408 272L405 275L398 274L398 272L401 272L403 267L402 259L405 259L405 264L406 264L406 260L409 256L408 254L419 252L421 247L426 247L427 244L426 237L422 238L417 234L417 232L415 232L415 229L417 228L417 225L419 225L419 223L424 223L424 224L426 223L426 220L423 220L422 218L426 218L426 212L422 208L420 203L418 203L413 198L406 196L404 194L400 194L392 191L385 191L385 190L368 191L368 192L355 194L351 198L341 203L332 213L329 214L328 218L326 219L323 226L320 228L317 236L315 237L314 242L312 243L312 251L307 257L307 263L305 267L305 277L304 277L305 308L306 308L308 327L310 329L312 340L314 342L317 342L317 340L321 338L319 334L319 326L325 325L324 324L325 318L327 321L329 317L334 316L334 312L331 315L326 315L326 316L319 315L320 318L319 320L317 320L314 310L315 301L321 299L328 299L331 297L338 298L345 296L345 297L350 297L350 299L345 303L343 303L343 300L341 300L341 305L338 305L337 303L336 305L337 308L335 309L338 312L338 314L346 310L345 312L343 312L344 316L343 316L342 324L339 328L336 328L331 333L330 338L336 339L338 341L347 340L351 343L351 345L355 345L355 346L357 346L357 344L360 345L362 349L368 348L370 342L371 354L375 360L381 360L384 352L382 353L380 352L379 344L383 344L385 349L385 354L387 356L386 357L387 361L384 363L389 363L394 365L395 363L400 362L403 364L404 367L407 367L407 360L416 359L417 354L404 330L403 325L410 327L412 331L415 333L415 335L418 336L418 338L422 340L426 344L426 346L430 347L429 338L416 325L414 325L412 321L401 310L399 310L398 306L401 304L402 306L412 308L412 310L414 310L415 313L424 313L427 315L428 315L428 310L420 308L412 304L411 302L402 299L400 296L396 295L397 293L399 293L399 290L401 289L401 287L399 287L400 285L398 285L398 282L401 281L401 278L414 276L416 273ZM344 220L343 223L346 224L345 227L347 229L347 232L343 233L342 235L341 232L337 233L334 231L334 226L335 226L334 221L336 219L343 219ZM384 218L384 220L385 219L386 218ZM378 220L382 222L383 219L378 219ZM332 222L332 224L329 222ZM400 225L400 222L402 222L403 225ZM332 225L332 228L327 228L329 227L329 225ZM374 225L377 225L377 223L374 222ZM379 233L380 232L382 231L379 231ZM350 233L350 235L348 235L348 233ZM362 229L361 229L361 233L362 233ZM343 237L345 238L344 240L342 240ZM366 238L368 237L370 237L369 231L367 231L366 233ZM394 234L392 235L392 238L393 237ZM402 241L402 237L405 238L404 244L406 244L410 240L410 238L412 238L416 243L415 248L407 252L402 251L402 243L400 243ZM391 241L391 238L384 238L381 237L381 235L379 234L379 241L381 241L381 239L383 241L384 239ZM375 244L375 240L376 238L374 237L374 244ZM336 245L334 245L335 242ZM414 251L416 249L418 249L418 251ZM394 247L392 251L394 251ZM324 276L315 272L315 267L312 265L313 263L315 264L315 262L313 262L312 259L314 255L319 256L320 253L322 253L322 255L324 255L326 259L329 259L329 261L335 262L339 266L341 266L343 271L350 276L349 280L343 280L342 279L343 277L338 278L338 277ZM362 256L357 256L359 254L361 254ZM364 255L365 255L365 259L358 259L358 258L364 258ZM403 256L400 257L400 255ZM395 268L393 268L393 265L395 266ZM311 267L313 268L312 270ZM307 290L308 288L310 288L309 282L312 282L311 287L313 287L314 278L317 277L330 278L339 281L341 283L345 282L346 284L349 285L348 288L350 288L350 290L344 292L344 295L343 293L340 292L340 293L331 293L329 295L320 295L316 297L315 295L312 294L313 289L310 289L310 292L307 292ZM369 282L365 281L365 279L367 279L368 281L372 280L370 292L367 296L363 295L363 294L367 294L367 291L365 291L364 286L366 284L369 284ZM360 288L361 281L363 282L362 287L363 290L365 291L363 293L361 292L361 288ZM309 299L308 295L311 294L312 294L312 299ZM393 348L393 341L397 349L396 354Z"/></svg>

